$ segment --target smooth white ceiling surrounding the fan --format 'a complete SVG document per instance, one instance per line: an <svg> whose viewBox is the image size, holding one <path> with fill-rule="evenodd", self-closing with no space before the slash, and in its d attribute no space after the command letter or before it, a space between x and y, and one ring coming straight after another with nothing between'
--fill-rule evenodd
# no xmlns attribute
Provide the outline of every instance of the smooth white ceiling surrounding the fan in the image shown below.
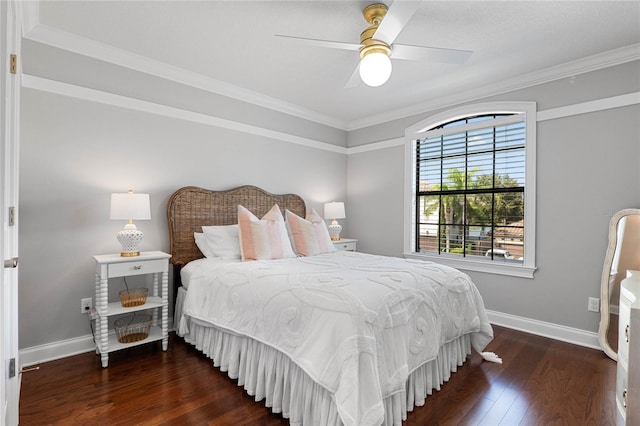
<svg viewBox="0 0 640 426"><path fill-rule="evenodd" d="M367 26L362 9L370 3L42 1L38 19L41 26L238 86L345 129L570 76L567 64L594 55L640 59L639 1L423 1L396 42L473 55L463 65L395 60L390 80L378 88L344 87L357 52L274 37L359 43Z"/></svg>

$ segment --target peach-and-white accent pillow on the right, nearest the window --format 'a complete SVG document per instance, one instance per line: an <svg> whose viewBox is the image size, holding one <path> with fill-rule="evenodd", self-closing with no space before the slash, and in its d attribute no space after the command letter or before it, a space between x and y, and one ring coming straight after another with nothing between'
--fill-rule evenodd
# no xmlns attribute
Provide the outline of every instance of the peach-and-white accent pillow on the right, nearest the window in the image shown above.
<svg viewBox="0 0 640 426"><path fill-rule="evenodd" d="M315 256L337 251L331 242L327 225L315 210L311 210L306 219L289 210L285 212L285 216L287 217L289 236L296 253L302 256Z"/></svg>

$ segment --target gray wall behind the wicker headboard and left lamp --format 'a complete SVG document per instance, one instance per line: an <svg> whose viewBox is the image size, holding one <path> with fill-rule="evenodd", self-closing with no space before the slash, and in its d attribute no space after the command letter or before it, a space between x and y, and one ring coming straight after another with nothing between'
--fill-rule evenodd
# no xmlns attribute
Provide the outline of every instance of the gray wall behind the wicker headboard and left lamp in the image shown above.
<svg viewBox="0 0 640 426"><path fill-rule="evenodd" d="M323 142L337 133L306 129L303 136ZM346 135L333 139L344 146ZM168 251L166 203L176 189L253 184L298 193L322 212L322 203L346 197L346 161L323 149L23 89L20 347L90 334L80 299L94 296L92 256L118 253L115 235L124 226L109 220L112 192L150 194L152 219L137 223L141 249ZM124 287L115 284L117 300Z"/></svg>

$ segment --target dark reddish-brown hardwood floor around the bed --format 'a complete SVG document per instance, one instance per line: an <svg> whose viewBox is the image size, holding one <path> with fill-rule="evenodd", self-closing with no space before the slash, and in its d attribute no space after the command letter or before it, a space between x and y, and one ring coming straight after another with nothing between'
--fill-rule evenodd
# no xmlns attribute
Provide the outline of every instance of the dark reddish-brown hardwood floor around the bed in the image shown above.
<svg viewBox="0 0 640 426"><path fill-rule="evenodd" d="M405 425L594 425L615 423L616 364L604 353L494 327L487 350L472 353ZM52 361L22 379L20 424L286 425L226 373L171 335L111 354Z"/></svg>

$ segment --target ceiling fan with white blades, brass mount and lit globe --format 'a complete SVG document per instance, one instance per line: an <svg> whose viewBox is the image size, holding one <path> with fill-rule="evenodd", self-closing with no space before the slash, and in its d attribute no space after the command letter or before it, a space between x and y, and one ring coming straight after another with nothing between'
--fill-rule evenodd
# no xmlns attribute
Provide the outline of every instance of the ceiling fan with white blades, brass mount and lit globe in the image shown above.
<svg viewBox="0 0 640 426"><path fill-rule="evenodd" d="M289 41L309 46L359 51L360 62L352 73L346 87L355 86L358 83L358 75L368 86L376 87L386 83L391 76L390 59L452 64L461 64L469 59L473 53L469 50L394 43L396 37L398 37L419 6L419 1L396 0L390 8L387 8L382 3L375 3L365 7L362 14L369 26L360 34L360 44L280 34L276 34L276 37L282 37Z"/></svg>

